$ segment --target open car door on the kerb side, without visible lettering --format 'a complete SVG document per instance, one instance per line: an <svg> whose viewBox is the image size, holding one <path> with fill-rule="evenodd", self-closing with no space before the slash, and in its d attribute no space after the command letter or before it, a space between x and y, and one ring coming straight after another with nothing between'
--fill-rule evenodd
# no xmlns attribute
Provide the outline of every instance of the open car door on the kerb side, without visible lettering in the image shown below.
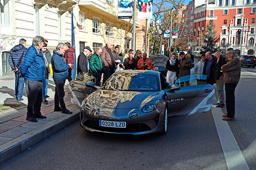
<svg viewBox="0 0 256 170"><path fill-rule="evenodd" d="M93 82L84 82L73 79L68 85L71 103L81 107L84 98L96 91L99 86L94 86Z"/></svg>

